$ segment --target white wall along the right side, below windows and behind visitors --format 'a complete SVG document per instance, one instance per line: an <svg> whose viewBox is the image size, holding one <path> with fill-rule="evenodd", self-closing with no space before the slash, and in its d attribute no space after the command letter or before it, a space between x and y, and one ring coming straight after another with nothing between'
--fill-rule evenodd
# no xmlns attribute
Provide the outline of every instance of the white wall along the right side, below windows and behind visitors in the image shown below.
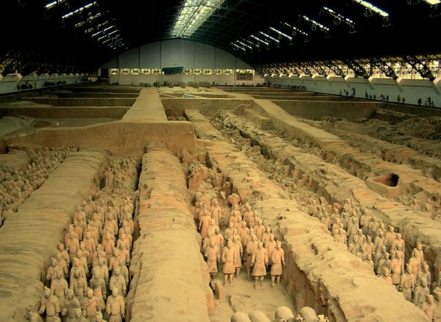
<svg viewBox="0 0 441 322"><path fill-rule="evenodd" d="M408 104L417 104L419 98L422 99L422 105L427 97L435 102L435 106L441 108L441 80L435 81L421 79L362 79L355 77L291 77L280 78L278 75L265 77L269 83L275 83L280 86L303 85L312 92L321 92L328 94L339 94L340 90L347 90L352 93L352 88L356 90L356 97L365 98L365 92L368 95L375 94L380 97L381 94L389 95L389 101L396 102L398 95L406 99Z"/></svg>

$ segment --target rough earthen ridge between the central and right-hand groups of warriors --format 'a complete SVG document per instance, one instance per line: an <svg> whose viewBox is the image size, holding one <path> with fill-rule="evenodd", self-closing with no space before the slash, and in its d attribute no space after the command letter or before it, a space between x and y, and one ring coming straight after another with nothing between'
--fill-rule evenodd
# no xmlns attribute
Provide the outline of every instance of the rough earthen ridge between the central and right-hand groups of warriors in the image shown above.
<svg viewBox="0 0 441 322"><path fill-rule="evenodd" d="M283 240L287 259L283 281L296 310L309 305L332 321L427 319L393 285L378 279L369 265L334 242L324 225L299 210L296 201L225 142L200 112L185 110L185 114L198 137L206 140L209 164L231 180L240 199L252 205ZM387 303L396 303L400 310L391 310Z"/></svg>

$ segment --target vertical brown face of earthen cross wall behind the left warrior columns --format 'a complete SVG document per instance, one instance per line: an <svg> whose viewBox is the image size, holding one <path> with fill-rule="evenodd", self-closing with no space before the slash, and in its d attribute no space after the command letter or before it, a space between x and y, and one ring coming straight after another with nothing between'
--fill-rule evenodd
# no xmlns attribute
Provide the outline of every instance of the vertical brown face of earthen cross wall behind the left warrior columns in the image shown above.
<svg viewBox="0 0 441 322"><path fill-rule="evenodd" d="M173 152L194 148L192 123L167 121L143 123L114 121L81 128L45 128L25 137L10 137L7 145L37 144L43 147L72 146L108 150L114 155L141 154L150 142L163 142Z"/></svg>

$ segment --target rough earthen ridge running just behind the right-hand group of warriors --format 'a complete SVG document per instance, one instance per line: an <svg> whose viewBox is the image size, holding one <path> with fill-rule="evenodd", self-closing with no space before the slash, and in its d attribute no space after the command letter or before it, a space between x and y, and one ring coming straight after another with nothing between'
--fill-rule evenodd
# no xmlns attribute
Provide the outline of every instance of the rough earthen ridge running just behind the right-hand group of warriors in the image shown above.
<svg viewBox="0 0 441 322"><path fill-rule="evenodd" d="M424 259L429 264L431 276L435 280L441 261L441 243L436 237L438 229L441 229L440 223L429 219L422 212L381 197L369 190L363 181L351 176L345 170L325 163L313 154L303 152L274 134L259 130L240 117L226 117L225 112L223 116L220 121L224 127L234 128L241 136L251 139L252 143L260 146L260 150L269 159L280 159L282 163L289 165L294 179L298 179L297 185L308 185L309 190L325 197L330 203L338 202L342 205L346 199L351 199L363 212L371 211L373 217L384 225L397 228L396 230L406 241L406 258L409 258L413 248L416 248L416 243L420 241L426 246ZM384 188L388 187L384 185ZM403 214L405 214L404 218Z"/></svg>

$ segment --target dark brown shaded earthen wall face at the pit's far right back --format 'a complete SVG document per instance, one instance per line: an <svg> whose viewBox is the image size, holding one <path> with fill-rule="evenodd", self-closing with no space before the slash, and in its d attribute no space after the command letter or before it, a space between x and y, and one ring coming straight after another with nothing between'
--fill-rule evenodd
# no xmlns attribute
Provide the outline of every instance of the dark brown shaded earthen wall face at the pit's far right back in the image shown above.
<svg viewBox="0 0 441 322"><path fill-rule="evenodd" d="M384 103L360 101L283 101L273 100L289 114L307 119L338 117L356 119L369 118L373 111L382 108Z"/></svg>

